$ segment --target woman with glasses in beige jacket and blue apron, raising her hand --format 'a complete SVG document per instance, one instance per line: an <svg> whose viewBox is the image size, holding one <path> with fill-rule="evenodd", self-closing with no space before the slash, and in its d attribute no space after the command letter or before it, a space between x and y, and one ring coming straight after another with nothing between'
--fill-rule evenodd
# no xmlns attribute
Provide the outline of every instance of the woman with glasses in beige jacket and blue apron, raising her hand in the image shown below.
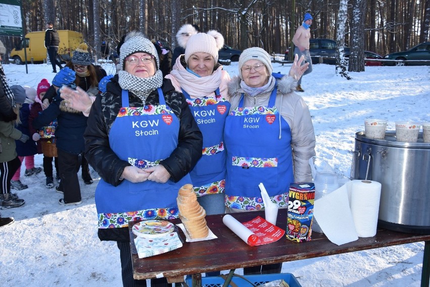
<svg viewBox="0 0 430 287"><path fill-rule="evenodd" d="M259 183L274 203L287 207L290 183L312 180L312 120L306 103L294 93L306 69L306 64L300 67L302 60L298 63L295 56L294 77L282 77L272 74L270 55L261 48L246 49L239 58L239 77L229 84L231 108L224 132L228 212L264 209ZM248 267L244 274L279 273L281 268L281 263Z"/></svg>

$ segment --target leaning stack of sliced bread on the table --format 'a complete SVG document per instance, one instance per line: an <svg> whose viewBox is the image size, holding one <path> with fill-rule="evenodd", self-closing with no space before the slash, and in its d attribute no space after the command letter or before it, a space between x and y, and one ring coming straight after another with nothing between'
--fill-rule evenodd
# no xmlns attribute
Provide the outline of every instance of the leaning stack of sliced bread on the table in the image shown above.
<svg viewBox="0 0 430 287"><path fill-rule="evenodd" d="M209 234L206 225L206 211L197 202L197 196L194 193L191 184L185 184L179 189L176 199L179 207L179 218L191 239L205 238Z"/></svg>

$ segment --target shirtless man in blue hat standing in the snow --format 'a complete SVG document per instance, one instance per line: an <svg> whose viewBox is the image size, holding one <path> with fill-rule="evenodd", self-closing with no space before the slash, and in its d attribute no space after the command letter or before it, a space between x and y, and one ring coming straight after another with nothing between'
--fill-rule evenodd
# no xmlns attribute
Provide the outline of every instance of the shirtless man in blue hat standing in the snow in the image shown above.
<svg viewBox="0 0 430 287"><path fill-rule="evenodd" d="M312 16L309 13L306 13L303 18L303 24L299 28L297 28L296 33L293 37L293 43L296 46L294 48L294 54L298 54L299 58L301 55L304 56L304 61L302 62L302 65L305 63L309 63L308 69L303 73L303 76L311 73L312 71L312 60L310 58L309 53L309 27L310 25L312 25L312 19ZM304 90L300 86L300 84L302 83L302 77L300 77L299 81L297 82L297 92L304 92Z"/></svg>

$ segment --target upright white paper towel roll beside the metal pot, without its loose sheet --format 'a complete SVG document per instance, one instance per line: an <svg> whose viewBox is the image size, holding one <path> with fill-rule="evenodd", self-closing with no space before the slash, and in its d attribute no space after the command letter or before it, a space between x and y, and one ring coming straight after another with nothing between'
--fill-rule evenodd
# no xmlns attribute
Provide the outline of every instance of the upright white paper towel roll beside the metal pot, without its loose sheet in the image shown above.
<svg viewBox="0 0 430 287"><path fill-rule="evenodd" d="M380 198L381 183L369 180L352 181L349 204L358 237L376 235Z"/></svg>

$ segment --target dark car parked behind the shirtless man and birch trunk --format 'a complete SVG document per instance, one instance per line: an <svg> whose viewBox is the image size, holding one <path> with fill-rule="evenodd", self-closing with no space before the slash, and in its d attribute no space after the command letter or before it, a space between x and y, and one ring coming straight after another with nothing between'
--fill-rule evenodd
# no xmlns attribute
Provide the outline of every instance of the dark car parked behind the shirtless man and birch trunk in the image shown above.
<svg viewBox="0 0 430 287"><path fill-rule="evenodd" d="M288 52L285 51L285 59L288 59ZM324 58L323 63L335 64L336 59L336 41L331 39L310 39L309 40L309 53L312 58L312 64L319 62L319 57L331 57ZM345 56L349 55L349 48L345 46Z"/></svg>

